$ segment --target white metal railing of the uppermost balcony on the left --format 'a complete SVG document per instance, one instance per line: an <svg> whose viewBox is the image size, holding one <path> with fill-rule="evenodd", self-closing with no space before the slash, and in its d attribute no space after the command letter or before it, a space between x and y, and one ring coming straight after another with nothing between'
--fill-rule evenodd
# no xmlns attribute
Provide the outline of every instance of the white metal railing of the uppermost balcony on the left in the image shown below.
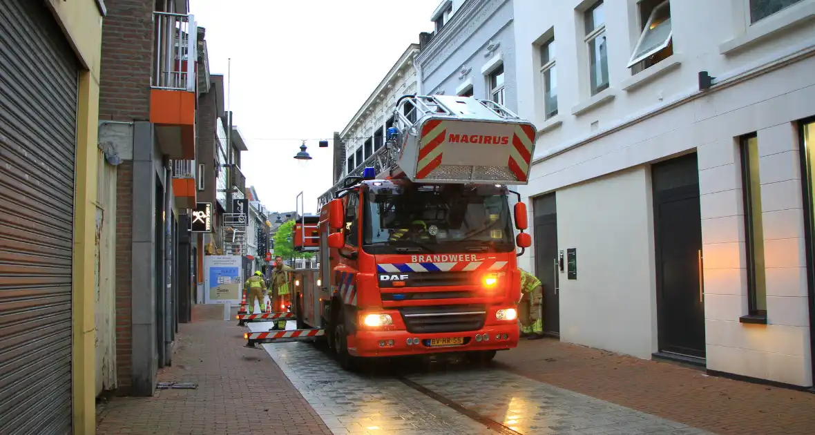
<svg viewBox="0 0 815 435"><path fill-rule="evenodd" d="M196 90L198 26L193 15L153 12L156 51L152 87Z"/></svg>

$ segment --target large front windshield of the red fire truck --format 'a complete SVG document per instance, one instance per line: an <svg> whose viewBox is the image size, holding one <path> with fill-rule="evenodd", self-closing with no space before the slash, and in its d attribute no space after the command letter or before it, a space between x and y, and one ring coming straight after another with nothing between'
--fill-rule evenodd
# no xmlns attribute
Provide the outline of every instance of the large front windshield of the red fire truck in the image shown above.
<svg viewBox="0 0 815 435"><path fill-rule="evenodd" d="M372 187L364 214L364 244L371 253L514 248L507 196L491 185Z"/></svg>

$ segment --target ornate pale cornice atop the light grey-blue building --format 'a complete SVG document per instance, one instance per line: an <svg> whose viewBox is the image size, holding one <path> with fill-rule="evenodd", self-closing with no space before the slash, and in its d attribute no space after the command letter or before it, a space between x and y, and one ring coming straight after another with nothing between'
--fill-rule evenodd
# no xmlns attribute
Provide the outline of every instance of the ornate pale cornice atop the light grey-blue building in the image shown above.
<svg viewBox="0 0 815 435"><path fill-rule="evenodd" d="M427 77L447 60L453 51L458 50L475 30L504 6L509 0L468 0L453 14L452 20L436 35L424 50L416 55L416 64L421 68L421 76Z"/></svg>

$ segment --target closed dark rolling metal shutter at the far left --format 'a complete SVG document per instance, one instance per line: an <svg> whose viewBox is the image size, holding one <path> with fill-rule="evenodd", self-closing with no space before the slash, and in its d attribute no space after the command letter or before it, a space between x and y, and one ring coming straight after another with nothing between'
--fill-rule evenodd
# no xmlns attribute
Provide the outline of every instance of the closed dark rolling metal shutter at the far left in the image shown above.
<svg viewBox="0 0 815 435"><path fill-rule="evenodd" d="M72 432L79 65L43 0L0 7L0 433Z"/></svg>

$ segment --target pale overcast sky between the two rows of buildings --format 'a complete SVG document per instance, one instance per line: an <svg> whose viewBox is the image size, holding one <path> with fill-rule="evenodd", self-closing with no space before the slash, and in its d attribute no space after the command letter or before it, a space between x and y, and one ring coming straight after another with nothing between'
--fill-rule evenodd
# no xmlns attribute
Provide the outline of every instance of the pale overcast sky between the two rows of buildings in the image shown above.
<svg viewBox="0 0 815 435"><path fill-rule="evenodd" d="M306 212L331 185L331 147L297 138L341 131L419 33L440 0L190 0L206 28L211 73L227 74L231 109L246 139L242 170L264 205ZM291 138L293 140L267 140Z"/></svg>

